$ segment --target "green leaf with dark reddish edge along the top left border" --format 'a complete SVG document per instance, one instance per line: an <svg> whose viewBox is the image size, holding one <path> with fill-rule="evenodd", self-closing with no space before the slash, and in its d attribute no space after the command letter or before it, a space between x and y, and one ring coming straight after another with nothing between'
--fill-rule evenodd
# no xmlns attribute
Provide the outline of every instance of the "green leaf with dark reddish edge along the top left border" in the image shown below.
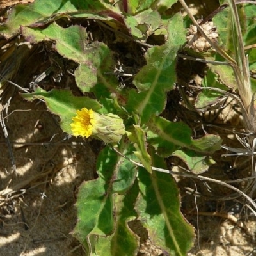
<svg viewBox="0 0 256 256"><path fill-rule="evenodd" d="M1 26L0 33L10 38L19 32L20 26L44 26L61 17L122 19L113 6L100 0L35 0L32 4L17 4L13 7L8 20Z"/></svg>

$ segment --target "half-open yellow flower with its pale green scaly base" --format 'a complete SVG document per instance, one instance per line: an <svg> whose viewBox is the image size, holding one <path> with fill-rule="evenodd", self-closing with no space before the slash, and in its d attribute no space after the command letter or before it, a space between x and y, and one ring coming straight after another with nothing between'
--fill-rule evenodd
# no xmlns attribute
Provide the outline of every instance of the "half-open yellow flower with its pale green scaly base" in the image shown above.
<svg viewBox="0 0 256 256"><path fill-rule="evenodd" d="M120 141L125 134L123 120L117 115L100 115L87 108L76 113L77 116L72 118L74 122L70 124L74 136L88 138L92 135L105 143L113 143Z"/></svg>

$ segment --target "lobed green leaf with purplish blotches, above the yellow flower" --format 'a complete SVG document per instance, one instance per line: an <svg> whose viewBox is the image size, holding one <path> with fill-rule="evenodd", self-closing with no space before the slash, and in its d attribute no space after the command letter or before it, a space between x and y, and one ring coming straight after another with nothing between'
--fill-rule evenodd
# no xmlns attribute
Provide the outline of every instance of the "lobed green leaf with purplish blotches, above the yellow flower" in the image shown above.
<svg viewBox="0 0 256 256"><path fill-rule="evenodd" d="M112 52L101 42L93 42L86 45L86 28L82 26L70 26L62 28L56 23L52 23L45 29L40 28L22 28L22 33L29 42L38 43L43 40L52 40L56 42L55 48L58 53L70 60L79 63L75 70L76 83L81 92L95 92L100 95L102 87L110 93L118 93L118 80L116 76L108 75L107 72L113 72L114 61ZM100 88L101 89L100 89Z"/></svg>

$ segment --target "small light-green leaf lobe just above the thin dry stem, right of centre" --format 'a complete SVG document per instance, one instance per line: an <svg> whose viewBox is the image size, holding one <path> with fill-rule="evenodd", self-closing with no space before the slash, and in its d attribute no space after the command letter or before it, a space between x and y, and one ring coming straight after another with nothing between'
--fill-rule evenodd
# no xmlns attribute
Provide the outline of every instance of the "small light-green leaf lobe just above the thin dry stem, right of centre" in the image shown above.
<svg viewBox="0 0 256 256"><path fill-rule="evenodd" d="M193 150L186 150L185 148L176 150L173 152L172 156L177 156L182 159L182 161L187 164L189 170L197 175L206 172L209 170L209 166L215 163L211 157L198 154L198 152Z"/></svg>

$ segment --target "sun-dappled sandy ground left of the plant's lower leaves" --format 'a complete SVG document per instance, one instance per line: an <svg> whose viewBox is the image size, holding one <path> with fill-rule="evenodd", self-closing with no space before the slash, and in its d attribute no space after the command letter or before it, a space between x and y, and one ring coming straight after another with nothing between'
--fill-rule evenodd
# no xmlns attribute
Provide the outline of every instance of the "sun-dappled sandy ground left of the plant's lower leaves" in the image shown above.
<svg viewBox="0 0 256 256"><path fill-rule="evenodd" d="M10 183L13 193L1 196L0 255L84 255L70 232L76 225L77 188L93 179L95 155L76 138L61 143L65 135L42 102L36 105L17 95L12 110L6 120L10 141L39 145L13 144L17 174L10 175L12 164L1 133L1 192Z"/></svg>

